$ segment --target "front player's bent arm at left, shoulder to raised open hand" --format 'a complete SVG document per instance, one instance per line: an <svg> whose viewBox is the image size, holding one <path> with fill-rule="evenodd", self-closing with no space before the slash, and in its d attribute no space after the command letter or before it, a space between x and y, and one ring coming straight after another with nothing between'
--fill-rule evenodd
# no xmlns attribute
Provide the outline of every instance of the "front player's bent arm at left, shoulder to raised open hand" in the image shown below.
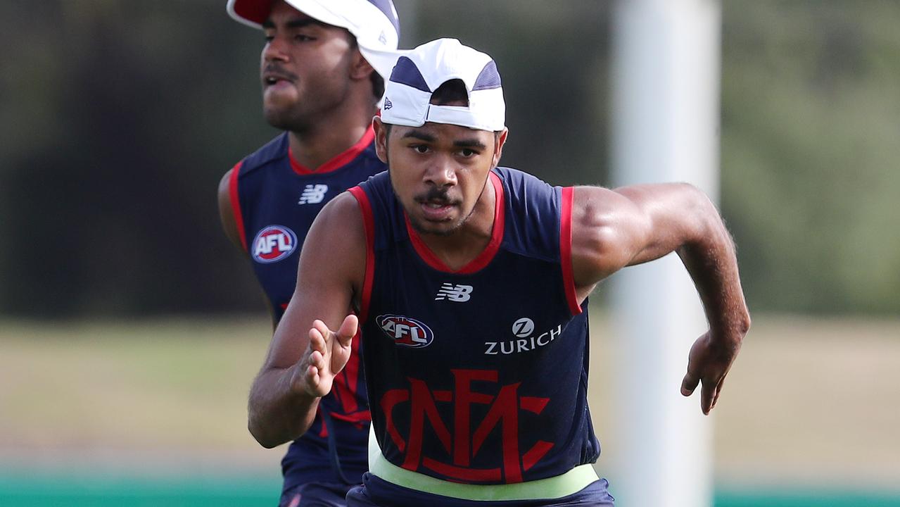
<svg viewBox="0 0 900 507"><path fill-rule="evenodd" d="M266 448L309 429L319 398L350 358L365 276L365 230L356 199L338 195L303 242L297 286L250 388L247 427ZM358 307L358 305L356 305Z"/></svg>

